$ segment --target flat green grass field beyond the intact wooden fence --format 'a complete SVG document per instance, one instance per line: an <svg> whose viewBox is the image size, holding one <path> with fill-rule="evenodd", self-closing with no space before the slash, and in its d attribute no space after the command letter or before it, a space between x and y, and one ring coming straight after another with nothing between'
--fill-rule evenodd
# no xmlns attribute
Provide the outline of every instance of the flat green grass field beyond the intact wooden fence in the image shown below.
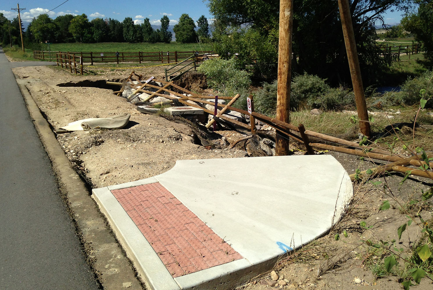
<svg viewBox="0 0 433 290"><path fill-rule="evenodd" d="M48 45L43 45L48 51ZM127 43L127 42L100 42L100 43L54 43L50 45L51 51L76 52L154 52L154 51L210 51L212 44L203 43Z"/></svg>

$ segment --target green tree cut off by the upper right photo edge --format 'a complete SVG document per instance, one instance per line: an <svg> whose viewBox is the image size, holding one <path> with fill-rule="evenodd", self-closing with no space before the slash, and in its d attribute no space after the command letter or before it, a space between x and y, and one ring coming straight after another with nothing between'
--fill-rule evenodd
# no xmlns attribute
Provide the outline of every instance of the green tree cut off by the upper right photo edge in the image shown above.
<svg viewBox="0 0 433 290"><path fill-rule="evenodd" d="M424 47L424 56L433 64L433 2L431 0L418 0L420 4L417 13L407 14L401 19L404 29L414 34L417 41Z"/></svg>

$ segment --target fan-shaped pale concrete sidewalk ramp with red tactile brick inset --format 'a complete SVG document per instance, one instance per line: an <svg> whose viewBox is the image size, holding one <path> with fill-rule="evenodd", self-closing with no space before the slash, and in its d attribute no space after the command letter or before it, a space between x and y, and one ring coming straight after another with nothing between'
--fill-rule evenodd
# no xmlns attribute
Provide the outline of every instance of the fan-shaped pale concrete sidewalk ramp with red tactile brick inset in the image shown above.
<svg viewBox="0 0 433 290"><path fill-rule="evenodd" d="M353 195L330 155L181 160L93 190L151 289L230 289L326 233Z"/></svg>

